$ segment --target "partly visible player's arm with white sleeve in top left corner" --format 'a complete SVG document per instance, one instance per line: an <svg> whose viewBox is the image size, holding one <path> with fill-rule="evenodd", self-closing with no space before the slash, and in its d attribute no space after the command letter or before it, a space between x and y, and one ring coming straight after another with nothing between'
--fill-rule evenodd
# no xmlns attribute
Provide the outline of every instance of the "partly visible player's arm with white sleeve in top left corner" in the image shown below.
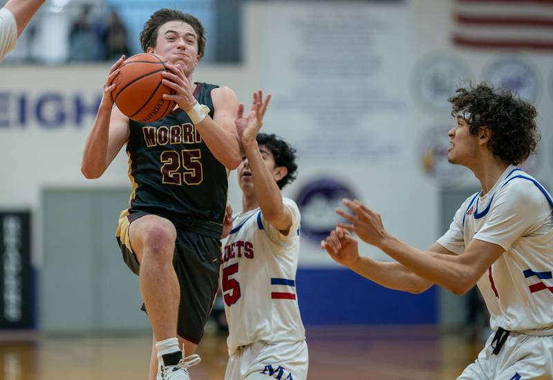
<svg viewBox="0 0 553 380"><path fill-rule="evenodd" d="M0 9L0 61L15 48L17 37L42 3L44 0L9 0Z"/></svg>

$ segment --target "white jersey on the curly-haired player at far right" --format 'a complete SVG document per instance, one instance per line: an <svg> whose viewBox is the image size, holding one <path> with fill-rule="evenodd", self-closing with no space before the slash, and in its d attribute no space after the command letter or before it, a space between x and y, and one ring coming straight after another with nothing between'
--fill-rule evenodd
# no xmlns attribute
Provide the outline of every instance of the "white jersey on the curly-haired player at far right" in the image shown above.
<svg viewBox="0 0 553 380"><path fill-rule="evenodd" d="M509 166L487 194L467 198L438 239L456 254L473 239L505 249L477 283L493 330L553 326L552 208L541 184Z"/></svg>

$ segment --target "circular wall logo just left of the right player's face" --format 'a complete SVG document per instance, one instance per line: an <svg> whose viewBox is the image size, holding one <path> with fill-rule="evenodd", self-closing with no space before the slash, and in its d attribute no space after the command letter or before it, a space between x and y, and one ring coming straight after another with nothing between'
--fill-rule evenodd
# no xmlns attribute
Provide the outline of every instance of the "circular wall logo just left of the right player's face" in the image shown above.
<svg viewBox="0 0 553 380"><path fill-rule="evenodd" d="M451 126L444 124L429 128L422 133L419 142L422 171L443 187L461 184L470 174L469 169L450 164L447 160L447 150L451 146L447 132Z"/></svg>

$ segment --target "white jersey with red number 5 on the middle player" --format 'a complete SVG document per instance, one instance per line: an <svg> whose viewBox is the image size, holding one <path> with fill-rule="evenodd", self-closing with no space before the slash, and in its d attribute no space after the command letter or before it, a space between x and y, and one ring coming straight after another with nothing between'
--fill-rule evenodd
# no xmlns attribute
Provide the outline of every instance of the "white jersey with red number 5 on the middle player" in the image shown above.
<svg viewBox="0 0 553 380"><path fill-rule="evenodd" d="M299 209L283 198L292 215L284 236L259 208L239 213L221 252L221 286L229 324L229 355L242 345L306 339L299 315L296 270Z"/></svg>

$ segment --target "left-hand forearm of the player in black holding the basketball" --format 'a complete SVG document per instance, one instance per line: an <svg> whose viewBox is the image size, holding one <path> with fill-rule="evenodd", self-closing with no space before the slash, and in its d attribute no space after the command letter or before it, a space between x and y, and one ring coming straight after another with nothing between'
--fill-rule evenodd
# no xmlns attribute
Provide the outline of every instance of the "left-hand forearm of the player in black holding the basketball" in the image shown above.
<svg viewBox="0 0 553 380"><path fill-rule="evenodd" d="M88 179L100 178L106 170L106 156L109 144L109 121L111 109L100 107L82 154L81 172Z"/></svg>

